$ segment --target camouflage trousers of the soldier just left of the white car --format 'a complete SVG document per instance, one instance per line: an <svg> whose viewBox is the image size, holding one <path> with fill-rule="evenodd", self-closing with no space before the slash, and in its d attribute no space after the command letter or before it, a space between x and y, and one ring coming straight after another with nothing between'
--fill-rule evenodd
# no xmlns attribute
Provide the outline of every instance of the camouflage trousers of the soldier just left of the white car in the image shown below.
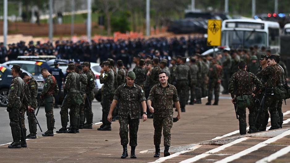
<svg viewBox="0 0 290 163"><path fill-rule="evenodd" d="M95 97L95 94L93 91L86 94L87 94L87 99L85 99L84 114L87 120L86 123L91 125L93 123L92 101Z"/></svg>

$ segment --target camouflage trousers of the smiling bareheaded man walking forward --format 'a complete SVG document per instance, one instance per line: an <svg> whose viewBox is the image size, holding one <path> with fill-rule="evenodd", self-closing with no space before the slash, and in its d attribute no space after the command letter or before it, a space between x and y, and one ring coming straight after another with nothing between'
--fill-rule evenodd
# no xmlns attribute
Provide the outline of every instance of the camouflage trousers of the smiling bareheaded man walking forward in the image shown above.
<svg viewBox="0 0 290 163"><path fill-rule="evenodd" d="M173 125L173 117L153 117L153 126L154 126L154 145L160 145L162 128L163 128L163 137L164 145L170 146L171 134L170 130Z"/></svg>

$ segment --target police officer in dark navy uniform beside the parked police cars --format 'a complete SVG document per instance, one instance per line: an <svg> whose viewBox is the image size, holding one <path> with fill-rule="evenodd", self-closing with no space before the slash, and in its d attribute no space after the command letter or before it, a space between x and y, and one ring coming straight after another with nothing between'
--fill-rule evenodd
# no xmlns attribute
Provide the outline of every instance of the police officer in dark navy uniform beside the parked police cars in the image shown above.
<svg viewBox="0 0 290 163"><path fill-rule="evenodd" d="M65 75L62 73L62 70L58 67L59 67L59 63L56 60L56 61L54 61L54 68L51 68L49 70L49 73L55 77L55 79L58 83L58 88L62 89L62 81L63 81L63 78L65 78ZM55 98L54 108L58 108L59 95L56 95L54 98Z"/></svg>

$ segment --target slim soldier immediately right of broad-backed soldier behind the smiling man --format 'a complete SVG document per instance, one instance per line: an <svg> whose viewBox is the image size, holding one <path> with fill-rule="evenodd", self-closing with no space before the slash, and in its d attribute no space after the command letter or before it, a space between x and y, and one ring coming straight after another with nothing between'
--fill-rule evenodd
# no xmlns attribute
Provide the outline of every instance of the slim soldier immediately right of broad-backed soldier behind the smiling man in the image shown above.
<svg viewBox="0 0 290 163"><path fill-rule="evenodd" d="M195 64L196 61L193 57L190 58L190 105L194 104L194 98L195 98L195 86L197 84L197 73L198 73L198 67Z"/></svg>

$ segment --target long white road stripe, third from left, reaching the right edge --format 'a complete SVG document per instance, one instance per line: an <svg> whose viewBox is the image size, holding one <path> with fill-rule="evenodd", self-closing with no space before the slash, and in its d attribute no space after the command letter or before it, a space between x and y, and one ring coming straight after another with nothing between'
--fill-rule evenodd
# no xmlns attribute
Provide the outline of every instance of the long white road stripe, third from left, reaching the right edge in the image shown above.
<svg viewBox="0 0 290 163"><path fill-rule="evenodd" d="M290 130L288 130L286 132L283 132L282 134L280 134L278 136L275 136L273 138L270 138L270 139L268 139L266 141L263 141L263 142L261 142L261 143L259 143L257 145L254 145L251 148L248 148L248 149L245 149L245 150L243 150L243 151L241 151L239 153L236 153L236 154L234 154L232 156L226 157L226 158L224 158L224 159L222 159L220 161L216 161L215 163L228 163L228 162L231 162L233 160L236 160L236 159L238 159L238 158L240 158L242 156L245 156L245 155L247 155L247 154L249 154L251 152L254 152L254 151L258 150L259 148L262 148L262 147L266 146L267 144L273 143L273 142L277 141L278 139L281 139L281 138L283 138L284 136L287 136L287 135L290 135Z"/></svg>

